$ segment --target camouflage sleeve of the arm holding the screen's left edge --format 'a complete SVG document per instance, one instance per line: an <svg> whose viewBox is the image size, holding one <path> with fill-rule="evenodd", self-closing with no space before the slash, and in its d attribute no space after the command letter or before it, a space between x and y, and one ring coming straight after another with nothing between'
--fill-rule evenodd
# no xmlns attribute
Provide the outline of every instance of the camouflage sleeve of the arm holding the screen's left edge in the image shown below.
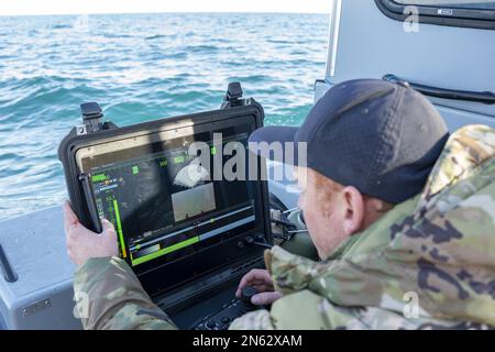
<svg viewBox="0 0 495 352"><path fill-rule="evenodd" d="M86 330L177 329L121 258L86 262L75 273L74 292Z"/></svg>

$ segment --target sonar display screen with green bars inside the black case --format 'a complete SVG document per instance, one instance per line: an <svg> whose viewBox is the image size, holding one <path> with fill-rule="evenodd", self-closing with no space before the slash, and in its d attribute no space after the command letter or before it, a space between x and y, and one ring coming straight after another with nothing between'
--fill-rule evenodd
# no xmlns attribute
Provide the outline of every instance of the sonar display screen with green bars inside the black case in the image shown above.
<svg viewBox="0 0 495 352"><path fill-rule="evenodd" d="M199 133L82 160L90 165L98 213L113 223L129 264L167 263L255 229L256 183L212 175L218 148L231 141L246 146L249 130L219 131L220 146L211 133ZM210 172L188 155L197 141L209 145ZM230 157L221 155L220 167Z"/></svg>

